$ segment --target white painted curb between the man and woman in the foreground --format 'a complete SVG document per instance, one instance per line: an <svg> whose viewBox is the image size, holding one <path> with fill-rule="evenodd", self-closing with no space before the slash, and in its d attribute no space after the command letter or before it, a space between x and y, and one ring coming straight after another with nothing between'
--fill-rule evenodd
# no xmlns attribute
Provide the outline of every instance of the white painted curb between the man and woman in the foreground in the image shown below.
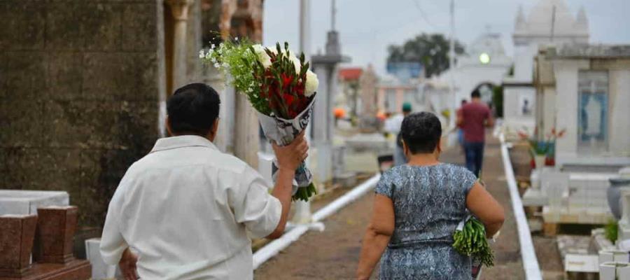
<svg viewBox="0 0 630 280"><path fill-rule="evenodd" d="M289 230L288 232L285 232L285 234L282 235L282 237L280 237L279 239L271 241L269 244L260 248L258 251L256 251L256 253L253 254L253 269L258 268L274 255L280 253L280 251L299 239L300 236L302 236L309 229L321 229L321 225L318 225L319 221L328 218L328 216L335 214L335 212L339 211L339 209L346 207L348 204L357 200L359 197L365 195L365 193L372 190L372 188L376 186L379 179L381 179L380 174L372 176L372 178L353 188L351 191L349 191L349 193L342 195L341 197L337 198L337 200L331 202L319 211L315 212L315 214L313 214L312 216L311 224L296 225L295 228Z"/></svg>

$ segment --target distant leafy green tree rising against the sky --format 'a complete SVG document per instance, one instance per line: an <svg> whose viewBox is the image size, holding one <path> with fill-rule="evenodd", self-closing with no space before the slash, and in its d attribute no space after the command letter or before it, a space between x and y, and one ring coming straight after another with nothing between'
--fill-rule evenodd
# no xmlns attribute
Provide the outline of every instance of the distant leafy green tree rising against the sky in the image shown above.
<svg viewBox="0 0 630 280"><path fill-rule="evenodd" d="M428 78L449 69L449 40L444 34L421 34L402 45L390 45L387 63L420 62ZM455 53L464 52L463 45L455 41Z"/></svg>

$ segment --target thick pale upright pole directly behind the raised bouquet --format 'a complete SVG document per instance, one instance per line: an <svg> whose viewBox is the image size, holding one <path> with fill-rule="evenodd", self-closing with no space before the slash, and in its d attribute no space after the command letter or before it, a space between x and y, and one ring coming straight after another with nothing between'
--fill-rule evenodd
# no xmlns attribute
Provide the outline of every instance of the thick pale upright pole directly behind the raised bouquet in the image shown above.
<svg viewBox="0 0 630 280"><path fill-rule="evenodd" d="M334 1L334 0L333 0ZM306 59L310 58L309 43L310 43L310 0L300 0L300 52L304 53ZM309 145L311 143L311 123L312 118L309 121L309 125L306 127L307 141ZM310 165L310 158L307 158L307 167ZM297 200L295 202L295 214L292 219L293 223L310 223L311 222L311 202L303 202Z"/></svg>

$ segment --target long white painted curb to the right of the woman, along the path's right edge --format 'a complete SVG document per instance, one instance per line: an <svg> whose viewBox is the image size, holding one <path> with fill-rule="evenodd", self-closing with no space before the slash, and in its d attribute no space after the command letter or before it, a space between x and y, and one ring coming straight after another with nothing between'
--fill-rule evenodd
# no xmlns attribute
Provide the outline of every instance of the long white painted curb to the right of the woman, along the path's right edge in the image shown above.
<svg viewBox="0 0 630 280"><path fill-rule="evenodd" d="M523 209L523 202L521 201L521 196L517 188L516 179L514 178L514 169L512 169L512 162L510 161L510 154L507 151L507 144L505 143L503 133L499 134L499 139L501 141L501 155L503 156L505 179L507 179L507 188L510 190L512 210L514 211L514 218L517 221L517 229L519 231L519 243L521 244L521 258L523 260L525 277L528 280L539 280L542 279L542 274L538 266L533 241L531 241L531 232L529 231L529 225L525 216L525 210Z"/></svg>

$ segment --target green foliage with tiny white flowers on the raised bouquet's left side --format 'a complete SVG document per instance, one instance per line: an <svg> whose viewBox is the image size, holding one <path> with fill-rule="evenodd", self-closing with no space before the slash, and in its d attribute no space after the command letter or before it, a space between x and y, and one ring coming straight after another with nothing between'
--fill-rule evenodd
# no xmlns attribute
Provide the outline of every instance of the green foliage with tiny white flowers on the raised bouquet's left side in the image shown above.
<svg viewBox="0 0 630 280"><path fill-rule="evenodd" d="M269 115L267 99L260 96L260 82L254 73L258 55L251 50L253 43L246 39L226 40L216 48L209 50L202 61L212 64L225 76L231 77L228 83L237 92L245 94L256 111Z"/></svg>

